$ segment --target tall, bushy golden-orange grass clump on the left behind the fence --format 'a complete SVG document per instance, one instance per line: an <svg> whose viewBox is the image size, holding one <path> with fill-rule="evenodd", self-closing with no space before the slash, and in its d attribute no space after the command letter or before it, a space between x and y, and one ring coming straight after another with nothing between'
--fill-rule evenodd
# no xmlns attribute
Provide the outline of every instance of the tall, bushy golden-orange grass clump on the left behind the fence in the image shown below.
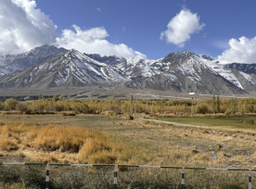
<svg viewBox="0 0 256 189"><path fill-rule="evenodd" d="M0 126L0 150L43 163L124 163L132 150L100 131L29 123ZM20 149L20 151L18 151Z"/></svg>

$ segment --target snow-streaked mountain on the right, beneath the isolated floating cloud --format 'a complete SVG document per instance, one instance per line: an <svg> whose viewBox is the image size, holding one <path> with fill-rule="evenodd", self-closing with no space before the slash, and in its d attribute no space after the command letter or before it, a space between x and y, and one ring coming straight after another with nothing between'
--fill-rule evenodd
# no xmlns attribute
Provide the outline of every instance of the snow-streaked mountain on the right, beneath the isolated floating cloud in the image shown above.
<svg viewBox="0 0 256 189"><path fill-rule="evenodd" d="M206 55L200 56L185 50L168 54L159 64L162 63L169 63L168 71L153 77L132 80L124 85L137 89L206 94L247 94L247 91L256 90L256 72L253 75L237 72L226 65L218 64Z"/></svg>

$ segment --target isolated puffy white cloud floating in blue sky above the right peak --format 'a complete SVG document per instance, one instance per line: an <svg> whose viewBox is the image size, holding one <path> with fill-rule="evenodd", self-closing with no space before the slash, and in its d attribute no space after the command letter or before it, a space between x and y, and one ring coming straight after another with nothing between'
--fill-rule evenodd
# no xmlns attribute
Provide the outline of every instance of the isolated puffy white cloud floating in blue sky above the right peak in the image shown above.
<svg viewBox="0 0 256 189"><path fill-rule="evenodd" d="M182 48L190 35L201 31L204 26L204 23L200 24L200 16L191 13L189 9L183 9L168 23L167 30L161 32L160 39Z"/></svg>

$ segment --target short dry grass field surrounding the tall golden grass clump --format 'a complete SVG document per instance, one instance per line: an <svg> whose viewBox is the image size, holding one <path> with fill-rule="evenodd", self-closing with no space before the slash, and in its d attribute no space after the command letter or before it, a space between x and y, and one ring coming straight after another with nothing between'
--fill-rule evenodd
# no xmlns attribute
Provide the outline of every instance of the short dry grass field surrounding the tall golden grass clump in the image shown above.
<svg viewBox="0 0 256 189"><path fill-rule="evenodd" d="M122 157L122 152L118 152L117 158L106 163L253 169L256 162L256 130L254 125L243 124L243 119L253 119L253 116L156 117L148 120L127 120L119 116L85 114L70 117L61 114L2 114L0 124L3 127L7 124L26 122L40 129L48 125L67 128L79 126L102 132L113 143L124 144L129 151L124 153L125 157ZM19 135L20 139L25 140L22 134ZM13 140L12 137L14 136L9 136L9 139ZM44 136L42 140L45 140ZM22 141L20 142L22 144ZM79 152L37 149L33 146L2 150L0 155L2 159L15 156L24 157L24 161L79 163ZM39 158L42 156L46 158ZM93 158L88 159L90 161Z"/></svg>

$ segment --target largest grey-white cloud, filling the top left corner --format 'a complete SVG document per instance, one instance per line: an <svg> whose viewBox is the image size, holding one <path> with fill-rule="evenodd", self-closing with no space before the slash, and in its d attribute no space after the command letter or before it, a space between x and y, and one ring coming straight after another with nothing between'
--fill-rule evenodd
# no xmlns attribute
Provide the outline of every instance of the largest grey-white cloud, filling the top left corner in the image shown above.
<svg viewBox="0 0 256 189"><path fill-rule="evenodd" d="M0 55L55 42L56 26L31 0L1 0Z"/></svg>

